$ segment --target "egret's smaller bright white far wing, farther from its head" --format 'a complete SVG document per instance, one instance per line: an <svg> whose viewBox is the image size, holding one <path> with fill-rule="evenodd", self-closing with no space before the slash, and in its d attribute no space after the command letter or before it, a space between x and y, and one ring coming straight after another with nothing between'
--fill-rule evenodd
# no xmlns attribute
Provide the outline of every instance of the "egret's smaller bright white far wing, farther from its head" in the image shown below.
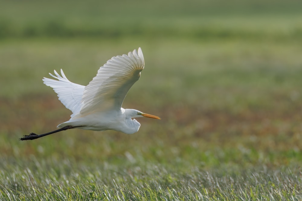
<svg viewBox="0 0 302 201"><path fill-rule="evenodd" d="M44 84L53 88L53 90L58 94L59 100L63 103L63 105L73 112L71 115L72 117L80 111L81 99L85 86L70 82L63 73L62 69L62 76L56 71L54 71L54 73L56 76L53 74L50 75L58 80L44 77Z"/></svg>

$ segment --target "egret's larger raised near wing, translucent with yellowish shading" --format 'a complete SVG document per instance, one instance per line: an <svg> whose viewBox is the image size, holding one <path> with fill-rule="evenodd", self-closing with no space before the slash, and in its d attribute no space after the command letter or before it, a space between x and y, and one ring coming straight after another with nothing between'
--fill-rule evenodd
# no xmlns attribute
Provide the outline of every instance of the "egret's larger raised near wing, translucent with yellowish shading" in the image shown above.
<svg viewBox="0 0 302 201"><path fill-rule="evenodd" d="M131 86L140 79L144 68L143 52L112 57L85 87L81 101L82 115L95 111L119 110Z"/></svg>

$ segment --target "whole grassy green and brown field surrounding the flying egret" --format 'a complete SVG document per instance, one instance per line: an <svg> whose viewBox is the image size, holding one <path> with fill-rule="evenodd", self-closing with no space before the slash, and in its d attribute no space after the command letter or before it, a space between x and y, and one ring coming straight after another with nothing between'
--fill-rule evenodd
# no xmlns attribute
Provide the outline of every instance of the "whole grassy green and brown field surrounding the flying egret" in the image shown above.
<svg viewBox="0 0 302 201"><path fill-rule="evenodd" d="M302 3L2 1L0 200L301 200ZM139 132L72 129L43 84L141 47Z"/></svg>

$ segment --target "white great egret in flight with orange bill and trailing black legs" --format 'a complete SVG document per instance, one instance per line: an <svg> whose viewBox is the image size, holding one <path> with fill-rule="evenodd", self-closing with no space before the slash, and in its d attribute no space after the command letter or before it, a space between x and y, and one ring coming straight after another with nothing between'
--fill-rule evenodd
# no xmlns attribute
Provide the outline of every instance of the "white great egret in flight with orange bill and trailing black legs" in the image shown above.
<svg viewBox="0 0 302 201"><path fill-rule="evenodd" d="M132 134L140 128L140 123L133 118L161 119L135 109L121 108L130 87L140 79L144 66L143 52L139 48L138 52L133 50L128 55L112 57L87 86L70 82L62 69L61 75L54 71L55 75L50 75L57 80L44 77L44 84L53 88L59 100L73 114L69 121L57 126L58 130L40 135L31 133L20 140L34 140L71 128Z"/></svg>

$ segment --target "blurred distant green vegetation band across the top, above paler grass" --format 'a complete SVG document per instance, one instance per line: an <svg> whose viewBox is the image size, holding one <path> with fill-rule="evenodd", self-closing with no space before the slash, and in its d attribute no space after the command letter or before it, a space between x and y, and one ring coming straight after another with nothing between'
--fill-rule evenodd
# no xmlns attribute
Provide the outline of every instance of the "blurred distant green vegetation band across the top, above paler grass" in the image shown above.
<svg viewBox="0 0 302 201"><path fill-rule="evenodd" d="M261 0L3 1L0 39L165 36L301 40L301 5L295 0L273 4Z"/></svg>

